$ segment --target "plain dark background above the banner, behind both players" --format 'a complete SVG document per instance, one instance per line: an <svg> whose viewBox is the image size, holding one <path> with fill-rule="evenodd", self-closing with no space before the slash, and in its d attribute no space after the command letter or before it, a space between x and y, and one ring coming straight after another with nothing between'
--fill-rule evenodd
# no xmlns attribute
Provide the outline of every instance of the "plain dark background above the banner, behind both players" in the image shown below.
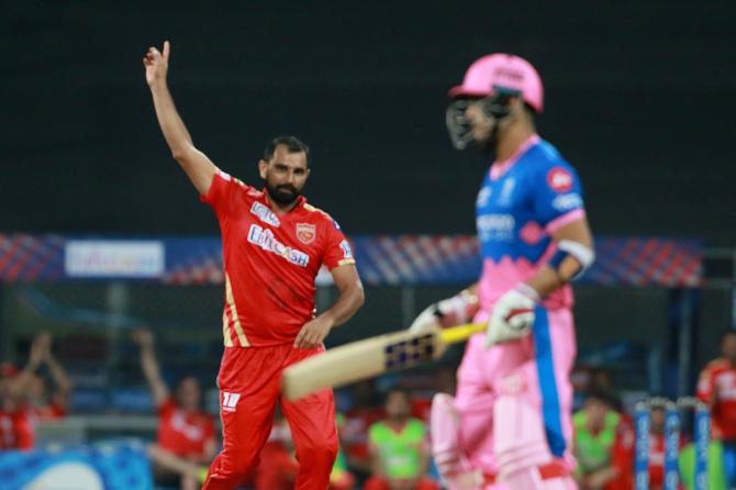
<svg viewBox="0 0 736 490"><path fill-rule="evenodd" d="M308 196L348 234L473 232L489 163L450 148L446 91L512 52L594 232L736 243L733 1L63 3L3 2L0 230L216 233L144 80L168 38L196 144L258 183L268 140L302 137Z"/></svg>

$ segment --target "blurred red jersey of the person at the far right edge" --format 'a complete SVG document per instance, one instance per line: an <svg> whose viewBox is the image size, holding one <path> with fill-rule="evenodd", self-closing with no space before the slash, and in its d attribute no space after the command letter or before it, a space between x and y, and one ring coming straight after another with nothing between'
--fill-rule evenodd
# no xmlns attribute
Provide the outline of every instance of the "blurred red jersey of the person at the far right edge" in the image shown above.
<svg viewBox="0 0 736 490"><path fill-rule="evenodd" d="M736 367L724 358L710 361L698 381L698 398L710 404L714 396L713 437L736 439Z"/></svg>

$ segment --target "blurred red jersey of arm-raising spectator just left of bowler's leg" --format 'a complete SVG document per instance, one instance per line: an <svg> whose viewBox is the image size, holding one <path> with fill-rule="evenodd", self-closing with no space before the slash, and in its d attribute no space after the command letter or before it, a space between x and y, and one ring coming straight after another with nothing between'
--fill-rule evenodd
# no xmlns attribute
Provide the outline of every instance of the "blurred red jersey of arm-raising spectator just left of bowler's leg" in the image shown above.
<svg viewBox="0 0 736 490"><path fill-rule="evenodd" d="M204 443L214 436L214 422L205 412L186 412L172 398L158 408L158 444L178 456L204 457Z"/></svg>

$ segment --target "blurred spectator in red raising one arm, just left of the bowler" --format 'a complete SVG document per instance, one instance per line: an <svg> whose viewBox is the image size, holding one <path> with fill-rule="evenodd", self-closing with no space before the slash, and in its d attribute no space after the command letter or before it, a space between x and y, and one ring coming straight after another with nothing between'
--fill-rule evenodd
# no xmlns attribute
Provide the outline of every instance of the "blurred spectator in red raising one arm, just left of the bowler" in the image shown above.
<svg viewBox="0 0 736 490"><path fill-rule="evenodd" d="M141 347L141 366L158 411L157 443L148 450L154 477L159 485L196 490L215 454L214 421L200 408L199 382L186 377L171 396L158 368L152 332L138 330L133 339Z"/></svg>

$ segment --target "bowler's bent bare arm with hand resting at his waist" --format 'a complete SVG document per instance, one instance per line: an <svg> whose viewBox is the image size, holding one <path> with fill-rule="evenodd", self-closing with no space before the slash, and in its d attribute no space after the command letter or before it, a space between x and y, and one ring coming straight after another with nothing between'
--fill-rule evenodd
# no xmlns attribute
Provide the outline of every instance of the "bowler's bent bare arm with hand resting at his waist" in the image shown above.
<svg viewBox="0 0 736 490"><path fill-rule="evenodd" d="M331 272L339 291L337 301L320 316L302 326L294 339L294 347L319 347L333 326L342 325L350 320L365 302L363 283L354 264L337 266Z"/></svg>

